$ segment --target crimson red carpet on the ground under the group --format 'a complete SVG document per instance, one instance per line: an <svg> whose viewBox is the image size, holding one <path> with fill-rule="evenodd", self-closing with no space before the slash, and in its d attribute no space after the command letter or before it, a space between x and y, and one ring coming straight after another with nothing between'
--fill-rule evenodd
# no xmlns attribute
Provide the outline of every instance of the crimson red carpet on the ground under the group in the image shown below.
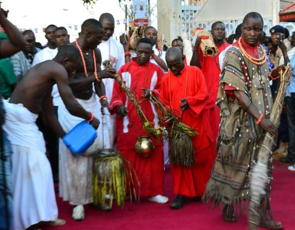
<svg viewBox="0 0 295 230"><path fill-rule="evenodd" d="M281 221L285 230L295 230L295 172L289 171L287 166L274 163L271 205L274 219ZM220 209L209 209L200 201L188 200L182 209L171 210L169 205L175 195L170 168L165 172L165 188L165 195L170 199L167 204L141 198L139 204L127 202L123 209L114 205L111 212L94 210L86 205L86 218L81 222L71 219L72 207L58 198L59 218L67 223L57 227L44 226L42 230L247 230L246 214L238 217L237 223L226 223Z"/></svg>

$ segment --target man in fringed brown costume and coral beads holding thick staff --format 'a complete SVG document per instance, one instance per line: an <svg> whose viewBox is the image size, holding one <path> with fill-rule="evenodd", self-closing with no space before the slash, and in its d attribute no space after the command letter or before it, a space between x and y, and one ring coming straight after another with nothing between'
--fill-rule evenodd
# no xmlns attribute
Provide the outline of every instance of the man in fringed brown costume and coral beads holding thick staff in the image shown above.
<svg viewBox="0 0 295 230"><path fill-rule="evenodd" d="M272 96L268 76L276 77L282 67L268 74L267 55L259 45L263 21L257 12L244 17L242 35L228 49L220 77L217 104L222 115L218 153L203 198L205 203L210 202L215 207L220 205L223 220L227 222L237 221L236 214L246 210L247 205L244 204L256 202L252 201L253 191L249 186L254 176L253 168L266 132L271 135L277 133L277 127L269 120ZM251 215L259 215L260 218L259 223L252 224L283 229L271 215L272 157L267 164L267 177L269 180L263 188L265 194L260 199L260 210L249 210Z"/></svg>

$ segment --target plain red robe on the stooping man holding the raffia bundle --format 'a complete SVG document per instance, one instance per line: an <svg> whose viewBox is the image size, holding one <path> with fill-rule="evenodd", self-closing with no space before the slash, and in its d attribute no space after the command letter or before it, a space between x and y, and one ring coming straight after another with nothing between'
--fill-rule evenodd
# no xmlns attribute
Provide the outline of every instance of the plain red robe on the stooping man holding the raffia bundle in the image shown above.
<svg viewBox="0 0 295 230"><path fill-rule="evenodd" d="M204 75L198 67L185 66L180 73L178 77L171 71L164 75L160 98L168 106L172 105L172 108L180 115L180 100L184 98L185 88L187 88L185 98L189 107L183 112L182 122L194 128L199 134L192 137L195 164L192 167L172 164L173 191L177 195L199 197L204 194L206 183L210 178L214 156L213 135L205 114L208 91Z"/></svg>

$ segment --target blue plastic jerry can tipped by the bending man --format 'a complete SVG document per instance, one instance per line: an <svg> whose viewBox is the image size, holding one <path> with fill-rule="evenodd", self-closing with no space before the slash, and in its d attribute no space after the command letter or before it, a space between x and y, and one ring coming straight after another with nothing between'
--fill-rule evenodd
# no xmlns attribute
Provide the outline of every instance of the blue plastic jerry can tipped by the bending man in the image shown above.
<svg viewBox="0 0 295 230"><path fill-rule="evenodd" d="M97 137L96 130L87 121L80 122L62 137L64 144L74 155L84 153Z"/></svg>

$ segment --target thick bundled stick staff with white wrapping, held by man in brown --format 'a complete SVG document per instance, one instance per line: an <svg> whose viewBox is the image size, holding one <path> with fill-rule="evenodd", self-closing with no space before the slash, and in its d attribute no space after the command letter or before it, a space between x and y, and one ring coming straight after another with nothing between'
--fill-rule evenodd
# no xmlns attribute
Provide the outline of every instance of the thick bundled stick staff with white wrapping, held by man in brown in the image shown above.
<svg viewBox="0 0 295 230"><path fill-rule="evenodd" d="M282 103L285 98L287 86L290 83L291 75L292 67L290 66L290 64L288 64L284 71L284 74L281 71L280 87L270 113L269 120L272 121L277 127L280 124L280 117L283 107ZM272 161L272 158L270 158L270 156L272 155L271 150L273 144L274 136L271 135L269 132L266 132L258 153L257 163L254 165L254 168L252 170L252 175L250 179L251 202L248 214L249 229L251 230L257 230L260 223L259 210L261 206L261 199L263 195L266 194L266 183L268 182L268 180L271 179L267 176L267 164L268 161L270 163Z"/></svg>

